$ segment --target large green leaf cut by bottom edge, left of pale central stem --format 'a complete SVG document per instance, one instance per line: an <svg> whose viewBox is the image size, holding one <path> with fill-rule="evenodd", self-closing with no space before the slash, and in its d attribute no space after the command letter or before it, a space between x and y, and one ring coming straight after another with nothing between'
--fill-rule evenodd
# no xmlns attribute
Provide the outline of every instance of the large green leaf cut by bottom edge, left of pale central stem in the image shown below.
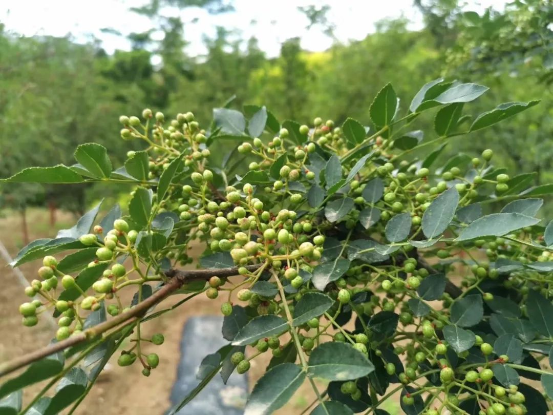
<svg viewBox="0 0 553 415"><path fill-rule="evenodd" d="M305 380L305 372L293 363L273 367L260 378L248 398L244 415L269 415L290 401Z"/></svg>

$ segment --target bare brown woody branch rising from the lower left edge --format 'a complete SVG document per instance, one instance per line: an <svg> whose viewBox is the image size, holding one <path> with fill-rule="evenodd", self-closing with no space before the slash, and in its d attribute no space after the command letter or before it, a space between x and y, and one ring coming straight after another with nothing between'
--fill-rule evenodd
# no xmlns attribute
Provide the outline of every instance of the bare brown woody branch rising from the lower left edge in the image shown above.
<svg viewBox="0 0 553 415"><path fill-rule="evenodd" d="M255 271L260 265L249 265L246 268L248 271ZM131 310L126 313L118 314L116 317L104 321L98 325L86 329L79 334L72 335L69 339L58 341L58 343L50 344L39 350L35 350L24 356L17 357L13 360L5 362L0 365L0 377L8 375L21 367L27 366L34 361L43 359L46 356L53 355L59 351L67 349L67 347L75 346L83 343L87 340L96 338L97 336L105 333L108 330L116 328L121 324L128 324L131 321L140 319L148 312L148 309L153 305L159 303L164 298L168 297L171 293L178 290L184 284L193 281L207 281L212 276L219 277L231 277L238 274L238 267L232 268L212 268L212 269L195 269L191 271L181 271L179 269L170 269L165 273L169 277L169 282L161 287L158 291L150 295L144 301L135 305Z"/></svg>

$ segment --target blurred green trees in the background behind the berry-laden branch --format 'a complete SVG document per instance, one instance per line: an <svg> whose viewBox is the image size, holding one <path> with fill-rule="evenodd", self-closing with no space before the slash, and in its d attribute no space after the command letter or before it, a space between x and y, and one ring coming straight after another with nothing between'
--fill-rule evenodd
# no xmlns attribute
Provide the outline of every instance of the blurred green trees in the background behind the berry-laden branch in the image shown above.
<svg viewBox="0 0 553 415"><path fill-rule="evenodd" d="M477 141L453 143L442 157L491 147L502 158L498 164L535 172L536 183L553 179L551 2L515 0L477 13L457 0L414 0L424 23L420 30L410 30L404 18L388 19L348 43L335 36L348 22L333 20L330 7L302 6L307 28L332 40L326 51L303 50L291 37L271 57L257 38L217 27L215 35L204 35L204 55L187 53L187 33L201 21L183 20L182 11L217 15L233 6L230 0L151 0L129 13L147 17L152 29L131 33L130 50L113 54L98 40L22 37L0 26L0 175L28 165L70 165L71 149L87 141L103 144L119 158L113 162L121 162L128 143L118 137L117 118L147 106L168 115L193 110L205 125L213 107L234 97L229 105L266 105L281 121L321 116L340 125L351 116L367 125L368 107L387 82L403 97L405 110L416 87L444 76L492 88L474 114L513 98L542 102L503 123L501 132L492 127ZM101 186L60 191L3 186L0 200L20 210L50 204L77 212L105 196Z"/></svg>

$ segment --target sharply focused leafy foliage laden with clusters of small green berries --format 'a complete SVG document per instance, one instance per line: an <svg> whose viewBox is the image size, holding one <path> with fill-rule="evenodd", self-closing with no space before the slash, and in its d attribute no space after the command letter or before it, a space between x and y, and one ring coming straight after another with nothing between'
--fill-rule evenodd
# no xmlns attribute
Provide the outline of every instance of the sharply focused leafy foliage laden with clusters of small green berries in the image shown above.
<svg viewBox="0 0 553 415"><path fill-rule="evenodd" d="M170 413L217 373L226 382L270 353L247 415L273 413L306 380L317 397L313 414L385 415L380 404L401 391L408 415L545 415L553 399L553 221L544 226L536 215L553 184L510 177L491 149L437 162L458 139L538 108L507 102L467 122L465 106L487 92L437 79L403 103L387 84L367 108L370 127L349 117L302 125L247 106L215 108L204 129L191 112L166 121L145 109L119 117L121 138L147 146L129 151L122 167L86 143L75 151L78 164L3 179L132 185L125 212L116 204L97 220L100 204L12 263L43 260L25 289L41 299L20 305L23 325L53 312L60 327L58 343L0 365L3 375L30 364L0 386L4 406L73 413L114 354L150 376L164 338L144 339L141 326L205 294L225 296L229 343L205 357L198 386ZM423 132L429 112L434 126ZM222 160L212 157L236 140ZM489 213L490 204L502 208ZM179 271L196 241L203 269ZM129 289L135 295L124 304ZM185 297L154 311L171 294ZM314 378L329 382L324 391ZM521 378L540 380L545 395ZM44 379L48 387L23 404L22 389Z"/></svg>

